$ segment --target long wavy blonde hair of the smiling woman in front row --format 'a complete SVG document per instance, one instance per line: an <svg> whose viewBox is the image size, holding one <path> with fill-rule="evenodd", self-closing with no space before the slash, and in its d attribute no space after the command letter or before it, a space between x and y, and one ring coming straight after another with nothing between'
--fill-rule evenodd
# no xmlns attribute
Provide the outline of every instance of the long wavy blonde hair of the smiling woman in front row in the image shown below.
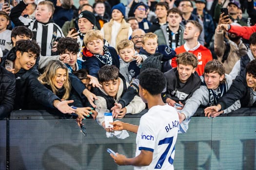
<svg viewBox="0 0 256 170"><path fill-rule="evenodd" d="M44 72L42 73L42 75L40 75L38 77L38 80L43 85L50 85L54 94L57 94L58 89L55 87L55 85L53 83L53 78L56 76L57 69L59 69L59 68L63 68L66 70L67 78L66 78L65 82L63 83L65 93L64 93L62 99L67 100L69 98L71 85L68 80L68 69L64 63L62 63L59 60L50 61L48 66L45 68Z"/></svg>

